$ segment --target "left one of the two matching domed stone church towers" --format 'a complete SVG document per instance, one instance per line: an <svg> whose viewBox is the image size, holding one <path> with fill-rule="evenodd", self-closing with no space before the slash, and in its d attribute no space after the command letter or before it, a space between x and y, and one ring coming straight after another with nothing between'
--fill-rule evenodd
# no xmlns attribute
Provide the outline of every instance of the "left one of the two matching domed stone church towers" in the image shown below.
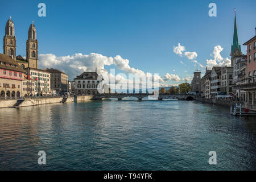
<svg viewBox="0 0 256 182"><path fill-rule="evenodd" d="M14 33L13 20L7 20L5 26L5 36L3 37L3 53L10 55L13 59L16 59L16 37Z"/></svg>

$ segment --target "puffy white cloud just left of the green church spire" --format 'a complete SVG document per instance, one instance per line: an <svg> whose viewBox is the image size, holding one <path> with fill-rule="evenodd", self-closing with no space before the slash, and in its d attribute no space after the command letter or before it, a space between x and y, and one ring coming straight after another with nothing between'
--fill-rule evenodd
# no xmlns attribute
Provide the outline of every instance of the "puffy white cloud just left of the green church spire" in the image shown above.
<svg viewBox="0 0 256 182"><path fill-rule="evenodd" d="M223 48L221 46L215 46L213 49L213 59L207 59L207 67L209 69L212 69L212 67L225 67L231 66L231 60L226 57L225 59L221 56L221 51L223 51Z"/></svg>

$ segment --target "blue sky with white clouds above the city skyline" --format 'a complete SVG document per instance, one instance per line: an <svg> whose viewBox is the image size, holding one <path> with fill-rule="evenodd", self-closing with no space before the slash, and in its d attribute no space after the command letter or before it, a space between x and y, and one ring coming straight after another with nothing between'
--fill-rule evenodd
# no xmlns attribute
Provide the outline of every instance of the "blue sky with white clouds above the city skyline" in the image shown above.
<svg viewBox="0 0 256 182"><path fill-rule="evenodd" d="M46 5L39 17L38 4ZM209 16L216 3L217 16ZM234 8L242 46L255 35L256 1L3 1L0 36L11 16L16 55L26 57L32 20L39 41L39 68L57 68L73 80L84 71L125 77L159 74L160 85L191 81L196 69L230 64ZM2 28L1 28L2 27ZM3 52L1 47L0 52ZM112 75L113 76L113 75ZM121 79L122 80L122 79Z"/></svg>

